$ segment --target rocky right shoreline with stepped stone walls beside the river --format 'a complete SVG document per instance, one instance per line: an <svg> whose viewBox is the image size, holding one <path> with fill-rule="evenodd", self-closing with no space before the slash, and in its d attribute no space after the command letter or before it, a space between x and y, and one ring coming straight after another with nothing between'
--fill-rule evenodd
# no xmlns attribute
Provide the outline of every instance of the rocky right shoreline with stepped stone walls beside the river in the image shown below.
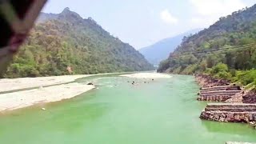
<svg viewBox="0 0 256 144"><path fill-rule="evenodd" d="M202 88L198 93L198 101L223 102L209 103L202 110L200 118L216 122L242 122L256 124L256 94L242 90L242 87L223 79L208 75L195 75Z"/></svg>

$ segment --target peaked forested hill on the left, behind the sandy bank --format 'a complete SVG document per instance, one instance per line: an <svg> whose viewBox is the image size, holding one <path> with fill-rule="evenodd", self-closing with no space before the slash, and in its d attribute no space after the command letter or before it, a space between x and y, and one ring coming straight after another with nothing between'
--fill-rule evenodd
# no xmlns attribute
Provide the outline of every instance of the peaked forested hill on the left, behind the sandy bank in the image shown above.
<svg viewBox="0 0 256 144"><path fill-rule="evenodd" d="M42 14L4 78L154 70L134 47L68 8Z"/></svg>

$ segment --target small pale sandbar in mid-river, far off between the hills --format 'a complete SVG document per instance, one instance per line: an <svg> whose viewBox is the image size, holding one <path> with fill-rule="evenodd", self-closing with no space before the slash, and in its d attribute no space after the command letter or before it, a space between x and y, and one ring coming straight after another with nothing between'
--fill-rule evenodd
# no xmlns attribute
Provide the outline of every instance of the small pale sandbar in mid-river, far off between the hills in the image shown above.
<svg viewBox="0 0 256 144"><path fill-rule="evenodd" d="M122 77L128 78L172 78L169 74L159 74L159 73L137 73L137 74L124 74L120 75Z"/></svg>

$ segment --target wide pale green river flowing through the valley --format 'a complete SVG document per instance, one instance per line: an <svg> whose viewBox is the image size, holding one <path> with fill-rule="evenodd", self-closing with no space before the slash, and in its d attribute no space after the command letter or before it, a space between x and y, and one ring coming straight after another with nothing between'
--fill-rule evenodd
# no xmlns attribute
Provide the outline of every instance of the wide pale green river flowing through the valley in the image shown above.
<svg viewBox="0 0 256 144"><path fill-rule="evenodd" d="M0 116L0 143L11 144L224 144L256 142L256 130L198 118L191 76L144 83L118 76L93 77L98 89L66 100L14 110ZM130 81L130 82L128 82ZM131 85L139 82L138 86Z"/></svg>

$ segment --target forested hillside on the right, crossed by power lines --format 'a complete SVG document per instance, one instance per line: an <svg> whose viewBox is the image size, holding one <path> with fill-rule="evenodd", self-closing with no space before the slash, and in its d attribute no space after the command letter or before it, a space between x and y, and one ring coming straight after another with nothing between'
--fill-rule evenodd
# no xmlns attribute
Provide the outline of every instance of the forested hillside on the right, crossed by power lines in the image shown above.
<svg viewBox="0 0 256 144"><path fill-rule="evenodd" d="M256 5L236 11L182 44L161 62L158 71L205 73L243 85L256 83Z"/></svg>

